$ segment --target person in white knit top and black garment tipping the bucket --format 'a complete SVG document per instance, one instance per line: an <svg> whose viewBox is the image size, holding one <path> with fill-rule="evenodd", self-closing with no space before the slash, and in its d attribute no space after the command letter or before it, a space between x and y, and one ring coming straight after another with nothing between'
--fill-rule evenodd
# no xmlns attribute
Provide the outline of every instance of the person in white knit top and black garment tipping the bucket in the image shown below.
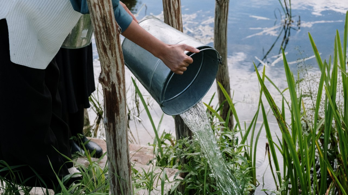
<svg viewBox="0 0 348 195"><path fill-rule="evenodd" d="M184 50L165 44L142 29L119 0L112 0L121 33L174 73L192 63ZM68 125L62 120L59 70L54 56L82 14L86 0L0 0L0 160L18 172L10 177L26 186L54 188L57 177L76 169L71 157ZM121 5L121 6L120 6Z"/></svg>

